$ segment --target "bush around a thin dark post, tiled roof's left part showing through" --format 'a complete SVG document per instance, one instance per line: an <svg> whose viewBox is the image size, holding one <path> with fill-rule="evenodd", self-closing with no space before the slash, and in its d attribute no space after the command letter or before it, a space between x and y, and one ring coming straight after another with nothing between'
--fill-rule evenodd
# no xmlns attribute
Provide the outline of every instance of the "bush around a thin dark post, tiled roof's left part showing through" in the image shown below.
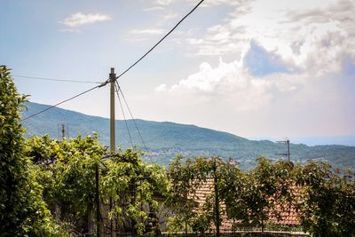
<svg viewBox="0 0 355 237"><path fill-rule="evenodd" d="M170 164L168 177L170 178L170 203L177 216L173 219L175 225L180 223L180 228L187 229L187 223L193 231L206 232L213 224L216 234L219 236L221 225L221 203L225 198L222 192L226 183L229 164L220 157L194 157L187 158L182 162L183 157L177 158ZM199 197L195 192L201 186L211 181L213 192L206 196L205 202L199 206L195 200Z"/></svg>

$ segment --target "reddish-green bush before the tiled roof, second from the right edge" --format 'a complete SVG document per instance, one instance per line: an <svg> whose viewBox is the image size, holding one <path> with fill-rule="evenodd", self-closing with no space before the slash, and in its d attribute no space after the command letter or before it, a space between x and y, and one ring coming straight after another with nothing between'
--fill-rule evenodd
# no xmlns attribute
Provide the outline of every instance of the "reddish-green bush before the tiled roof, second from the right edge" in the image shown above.
<svg viewBox="0 0 355 237"><path fill-rule="evenodd" d="M229 218L242 225L261 226L264 232L270 217L280 219L280 211L293 204L295 178L292 162L272 162L262 156L257 162L248 173L230 169L225 178L225 205Z"/></svg>

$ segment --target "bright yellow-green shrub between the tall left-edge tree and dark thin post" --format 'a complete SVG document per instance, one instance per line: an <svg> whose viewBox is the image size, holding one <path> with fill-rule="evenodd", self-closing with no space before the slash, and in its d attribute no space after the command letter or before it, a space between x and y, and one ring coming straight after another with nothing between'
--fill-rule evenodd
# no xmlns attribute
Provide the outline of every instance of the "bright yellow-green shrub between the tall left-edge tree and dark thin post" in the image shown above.
<svg viewBox="0 0 355 237"><path fill-rule="evenodd" d="M41 170L43 199L72 232L93 232L95 169L106 152L97 138L94 134L63 141L49 136L28 139L27 155Z"/></svg>

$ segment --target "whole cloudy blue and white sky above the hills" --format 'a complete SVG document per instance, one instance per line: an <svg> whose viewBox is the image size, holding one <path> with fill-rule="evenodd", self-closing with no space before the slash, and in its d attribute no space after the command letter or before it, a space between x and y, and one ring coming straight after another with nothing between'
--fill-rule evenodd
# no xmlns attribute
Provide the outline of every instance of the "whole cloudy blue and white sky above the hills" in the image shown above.
<svg viewBox="0 0 355 237"><path fill-rule="evenodd" d="M30 101L53 105L96 84L16 75L106 81L199 1L0 2L0 64ZM135 118L291 142L355 137L354 12L353 0L205 0L119 83ZM60 107L108 117L109 88Z"/></svg>

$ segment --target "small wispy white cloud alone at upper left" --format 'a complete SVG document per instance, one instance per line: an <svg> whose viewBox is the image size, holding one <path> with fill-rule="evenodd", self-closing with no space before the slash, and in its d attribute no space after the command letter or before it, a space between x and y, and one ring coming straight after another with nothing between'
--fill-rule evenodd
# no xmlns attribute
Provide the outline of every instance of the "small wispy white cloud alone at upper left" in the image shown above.
<svg viewBox="0 0 355 237"><path fill-rule="evenodd" d="M71 16L67 17L61 23L67 25L69 27L75 28L86 24L93 24L99 21L111 20L111 18L107 15L103 15L100 13L95 14L83 14L82 12L76 12Z"/></svg>

